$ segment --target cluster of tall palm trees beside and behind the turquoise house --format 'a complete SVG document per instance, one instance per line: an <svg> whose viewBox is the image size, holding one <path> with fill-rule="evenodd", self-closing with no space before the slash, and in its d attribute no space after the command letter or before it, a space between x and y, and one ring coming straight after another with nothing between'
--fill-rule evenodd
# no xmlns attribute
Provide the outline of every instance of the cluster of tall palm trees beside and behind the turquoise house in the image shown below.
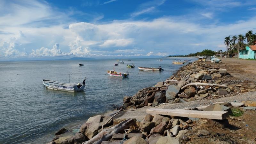
<svg viewBox="0 0 256 144"><path fill-rule="evenodd" d="M238 36L227 36L224 38L224 44L226 45L226 50L230 54L238 52L238 49L244 49L245 46L254 45L256 42L256 33L253 34L252 30L249 30Z"/></svg>

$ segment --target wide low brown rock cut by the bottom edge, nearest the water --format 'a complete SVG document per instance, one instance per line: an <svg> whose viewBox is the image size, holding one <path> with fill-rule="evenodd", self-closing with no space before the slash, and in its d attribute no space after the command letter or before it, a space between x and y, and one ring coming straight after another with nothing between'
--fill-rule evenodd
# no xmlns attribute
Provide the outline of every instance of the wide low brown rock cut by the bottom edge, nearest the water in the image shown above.
<svg viewBox="0 0 256 144"><path fill-rule="evenodd" d="M83 133L77 133L74 136L60 137L54 142L58 144L80 144L84 141L89 140Z"/></svg>

